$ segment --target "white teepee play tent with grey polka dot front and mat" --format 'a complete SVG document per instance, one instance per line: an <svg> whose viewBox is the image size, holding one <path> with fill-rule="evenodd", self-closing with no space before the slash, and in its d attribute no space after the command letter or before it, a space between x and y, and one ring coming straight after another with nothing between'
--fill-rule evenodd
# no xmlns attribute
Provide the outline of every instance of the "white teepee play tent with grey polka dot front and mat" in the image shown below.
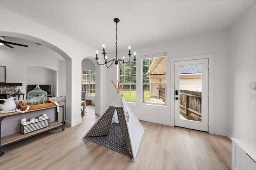
<svg viewBox="0 0 256 170"><path fill-rule="evenodd" d="M83 138L135 160L145 129L122 98L124 84L113 84L116 96Z"/></svg>

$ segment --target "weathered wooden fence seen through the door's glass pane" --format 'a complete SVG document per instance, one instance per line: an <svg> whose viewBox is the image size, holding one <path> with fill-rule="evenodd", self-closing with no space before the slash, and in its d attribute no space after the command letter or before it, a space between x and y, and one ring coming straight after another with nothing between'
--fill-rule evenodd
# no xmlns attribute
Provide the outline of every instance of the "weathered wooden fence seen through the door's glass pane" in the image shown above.
<svg viewBox="0 0 256 170"><path fill-rule="evenodd" d="M202 92L180 90L180 113L202 121Z"/></svg>

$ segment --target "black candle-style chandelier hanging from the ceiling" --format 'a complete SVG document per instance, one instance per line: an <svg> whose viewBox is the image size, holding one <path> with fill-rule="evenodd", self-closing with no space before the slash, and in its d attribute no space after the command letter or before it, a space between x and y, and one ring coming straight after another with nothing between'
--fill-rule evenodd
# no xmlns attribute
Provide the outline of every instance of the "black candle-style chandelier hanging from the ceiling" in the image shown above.
<svg viewBox="0 0 256 170"><path fill-rule="evenodd" d="M136 52L134 52L134 63L133 64L129 64L129 62L130 62L130 60L131 60L131 47L129 46L128 47L128 49L129 49L129 54L128 54L128 56L129 56L129 61L127 61L127 62L124 62L124 59L125 59L125 57L123 57L123 60L121 60L121 59L117 59L117 23L119 22L120 20L118 19L118 18L115 18L114 19L114 22L116 23L116 59L113 59L113 60L110 60L110 61L107 61L107 59L108 59L108 57L106 56L106 53L105 53L105 45L103 44L102 45L102 48L103 48L103 57L104 57L104 60L105 60L105 62L104 62L104 64L106 64L106 67L107 68L109 68L113 63L115 63L116 65L119 63L120 64L120 66L121 67L124 67L124 64L128 64L128 65L130 65L130 66L133 66L134 64L135 64L135 61L136 61ZM96 61L97 61L97 64L99 64L99 65L104 65L104 64L100 64L100 63L98 63L98 51L96 51ZM110 64L109 66L107 65L107 64ZM123 65L122 65L123 64Z"/></svg>

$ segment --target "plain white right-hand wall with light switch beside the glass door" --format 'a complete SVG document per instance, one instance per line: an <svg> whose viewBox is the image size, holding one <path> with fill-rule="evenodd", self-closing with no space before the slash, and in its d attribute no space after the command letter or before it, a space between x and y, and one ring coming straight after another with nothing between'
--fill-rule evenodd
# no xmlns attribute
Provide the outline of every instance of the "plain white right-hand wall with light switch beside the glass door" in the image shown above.
<svg viewBox="0 0 256 170"><path fill-rule="evenodd" d="M256 142L256 90L249 90L256 82L256 3L230 27L229 43L229 137Z"/></svg>

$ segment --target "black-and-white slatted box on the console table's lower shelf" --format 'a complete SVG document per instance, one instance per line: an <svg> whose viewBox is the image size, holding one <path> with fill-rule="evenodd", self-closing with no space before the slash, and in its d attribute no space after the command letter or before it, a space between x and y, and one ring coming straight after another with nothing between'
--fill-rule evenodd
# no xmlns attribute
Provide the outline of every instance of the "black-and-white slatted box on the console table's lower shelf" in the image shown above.
<svg viewBox="0 0 256 170"><path fill-rule="evenodd" d="M39 129L43 129L45 127L49 127L49 125L50 125L50 119L38 121L35 123L31 123L29 125L20 124L20 133L22 133L22 135L25 135L27 133L34 132Z"/></svg>

